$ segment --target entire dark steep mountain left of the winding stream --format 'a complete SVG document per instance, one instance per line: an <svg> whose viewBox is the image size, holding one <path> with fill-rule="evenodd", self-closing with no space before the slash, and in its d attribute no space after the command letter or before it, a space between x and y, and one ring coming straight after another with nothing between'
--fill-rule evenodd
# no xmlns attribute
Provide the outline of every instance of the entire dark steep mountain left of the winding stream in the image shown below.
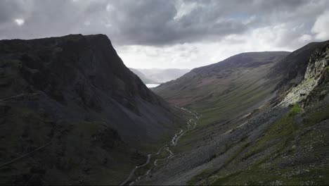
<svg viewBox="0 0 329 186"><path fill-rule="evenodd" d="M0 41L0 184L119 184L181 111L105 35Z"/></svg>

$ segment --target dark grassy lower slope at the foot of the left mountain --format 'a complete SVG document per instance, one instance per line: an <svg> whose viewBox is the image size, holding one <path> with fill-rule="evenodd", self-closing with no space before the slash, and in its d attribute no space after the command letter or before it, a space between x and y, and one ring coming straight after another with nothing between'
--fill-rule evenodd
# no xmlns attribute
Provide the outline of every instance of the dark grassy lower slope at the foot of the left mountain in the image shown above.
<svg viewBox="0 0 329 186"><path fill-rule="evenodd" d="M0 121L3 117L0 116ZM54 127L56 137L46 149L1 168L2 185L10 184L13 176L20 179L27 175L28 178L33 167L43 168L48 175L51 174L51 178L44 178L51 185L118 185L127 178L136 163L146 161L141 154L133 159L135 149L120 142L103 123L53 123L43 114L20 106L11 106L4 122L0 125L0 151L6 156L2 157L1 163L49 142ZM105 159L108 163L103 163ZM24 185L25 180L21 181L19 183Z"/></svg>

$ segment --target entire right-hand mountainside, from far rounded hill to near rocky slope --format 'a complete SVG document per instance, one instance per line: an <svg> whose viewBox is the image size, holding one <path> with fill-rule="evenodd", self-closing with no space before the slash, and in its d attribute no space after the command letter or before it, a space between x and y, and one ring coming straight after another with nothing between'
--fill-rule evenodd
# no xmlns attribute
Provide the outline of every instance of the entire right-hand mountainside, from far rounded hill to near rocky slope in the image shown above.
<svg viewBox="0 0 329 186"><path fill-rule="evenodd" d="M238 54L155 88L202 116L139 184L328 185L328 65L329 41L318 42Z"/></svg>

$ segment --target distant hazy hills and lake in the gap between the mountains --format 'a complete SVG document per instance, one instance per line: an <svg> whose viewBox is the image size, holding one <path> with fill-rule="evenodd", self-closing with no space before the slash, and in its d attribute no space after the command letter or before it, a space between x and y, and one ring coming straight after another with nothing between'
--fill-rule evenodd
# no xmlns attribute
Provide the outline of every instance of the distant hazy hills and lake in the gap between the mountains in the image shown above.
<svg viewBox="0 0 329 186"><path fill-rule="evenodd" d="M142 69L137 68L139 73L142 73L147 79L152 80L155 84L161 84L162 82L167 82L170 80L176 80L178 77L188 73L188 69L178 69L178 68L150 68ZM136 74L137 75L137 74ZM143 77L142 75L142 77ZM141 78L143 80L143 78Z"/></svg>

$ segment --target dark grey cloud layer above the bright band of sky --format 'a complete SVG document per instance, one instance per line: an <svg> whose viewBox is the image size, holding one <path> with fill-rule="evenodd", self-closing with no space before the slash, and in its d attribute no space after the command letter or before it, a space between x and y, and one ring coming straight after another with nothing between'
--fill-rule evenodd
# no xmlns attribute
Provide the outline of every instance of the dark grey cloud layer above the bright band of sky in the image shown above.
<svg viewBox="0 0 329 186"><path fill-rule="evenodd" d="M103 33L118 45L153 46L216 42L228 35L284 25L276 44L285 45L302 35L315 35L311 29L328 4L299 0L3 0L0 38ZM18 19L24 23L18 25Z"/></svg>

